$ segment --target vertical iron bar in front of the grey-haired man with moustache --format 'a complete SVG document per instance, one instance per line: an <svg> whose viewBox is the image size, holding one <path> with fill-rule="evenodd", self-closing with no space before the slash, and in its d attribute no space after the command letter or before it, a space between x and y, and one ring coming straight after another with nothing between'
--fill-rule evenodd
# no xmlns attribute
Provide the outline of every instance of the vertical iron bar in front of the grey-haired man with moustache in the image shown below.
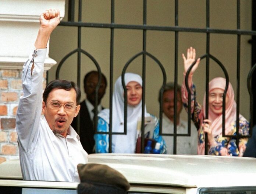
<svg viewBox="0 0 256 194"><path fill-rule="evenodd" d="M175 26L178 26L178 0L175 0ZM177 153L178 38L179 38L179 33L178 31L175 31L173 154Z"/></svg>

